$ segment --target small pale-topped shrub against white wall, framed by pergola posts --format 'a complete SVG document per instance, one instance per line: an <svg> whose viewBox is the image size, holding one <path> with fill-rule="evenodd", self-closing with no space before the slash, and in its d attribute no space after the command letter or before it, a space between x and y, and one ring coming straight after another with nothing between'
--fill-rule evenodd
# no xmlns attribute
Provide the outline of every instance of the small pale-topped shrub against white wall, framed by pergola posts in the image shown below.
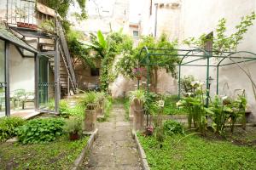
<svg viewBox="0 0 256 170"><path fill-rule="evenodd" d="M192 75L184 76L180 79L180 88L183 94L194 92L195 87L192 86L191 82L195 82L195 77Z"/></svg>

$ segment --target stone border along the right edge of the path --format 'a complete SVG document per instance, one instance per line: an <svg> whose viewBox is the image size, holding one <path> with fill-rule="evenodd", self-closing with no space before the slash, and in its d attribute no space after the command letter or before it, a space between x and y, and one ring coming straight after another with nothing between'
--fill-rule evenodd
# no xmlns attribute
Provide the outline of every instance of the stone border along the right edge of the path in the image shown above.
<svg viewBox="0 0 256 170"><path fill-rule="evenodd" d="M135 139L138 154L140 156L140 159L142 160L143 170L150 170L150 167L148 166L147 156L145 154L145 151L143 150L143 146L140 144L139 140L137 139L137 133L134 130L132 130L132 138Z"/></svg>

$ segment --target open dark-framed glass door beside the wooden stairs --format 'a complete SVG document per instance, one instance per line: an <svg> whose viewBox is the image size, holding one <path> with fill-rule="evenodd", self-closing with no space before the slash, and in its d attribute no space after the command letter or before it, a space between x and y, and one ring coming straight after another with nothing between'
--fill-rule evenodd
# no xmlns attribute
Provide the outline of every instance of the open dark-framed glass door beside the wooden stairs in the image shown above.
<svg viewBox="0 0 256 170"><path fill-rule="evenodd" d="M45 56L38 59L38 103L40 110L55 111L54 59Z"/></svg>

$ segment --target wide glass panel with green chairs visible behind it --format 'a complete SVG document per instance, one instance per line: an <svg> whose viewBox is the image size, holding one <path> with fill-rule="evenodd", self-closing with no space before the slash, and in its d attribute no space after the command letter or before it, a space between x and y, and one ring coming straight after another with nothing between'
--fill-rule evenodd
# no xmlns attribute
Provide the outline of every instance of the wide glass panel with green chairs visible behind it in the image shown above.
<svg viewBox="0 0 256 170"><path fill-rule="evenodd" d="M22 57L14 45L9 48L10 114L27 116L35 111L35 60Z"/></svg>

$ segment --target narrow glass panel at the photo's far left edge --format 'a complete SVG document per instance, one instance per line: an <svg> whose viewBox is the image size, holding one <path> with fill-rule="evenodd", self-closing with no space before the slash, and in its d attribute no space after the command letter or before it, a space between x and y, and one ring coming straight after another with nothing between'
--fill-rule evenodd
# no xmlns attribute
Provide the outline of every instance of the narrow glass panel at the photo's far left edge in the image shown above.
<svg viewBox="0 0 256 170"><path fill-rule="evenodd" d="M5 59L4 42L0 40L0 117L5 116Z"/></svg>

